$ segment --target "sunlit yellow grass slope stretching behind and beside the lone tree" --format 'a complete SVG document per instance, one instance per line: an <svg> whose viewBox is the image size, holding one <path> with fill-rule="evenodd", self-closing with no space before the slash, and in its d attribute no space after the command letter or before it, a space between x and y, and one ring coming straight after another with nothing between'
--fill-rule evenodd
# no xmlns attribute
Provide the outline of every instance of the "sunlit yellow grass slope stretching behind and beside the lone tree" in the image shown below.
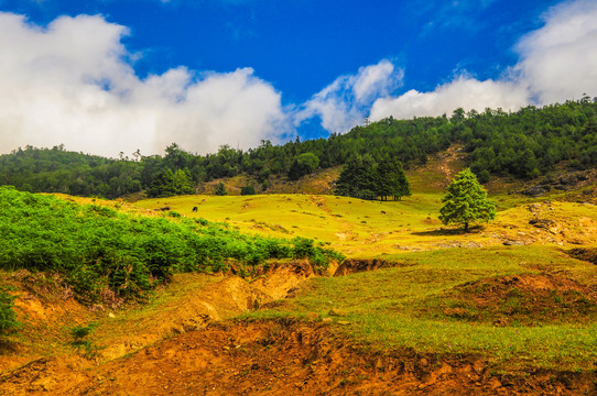
<svg viewBox="0 0 597 396"><path fill-rule="evenodd" d="M314 238L348 256L360 257L503 243L593 244L596 240L595 206L508 202L509 209L500 210L496 221L464 234L441 224L441 194L431 193L384 202L312 195L185 196L135 205L154 212L167 207L186 217L226 221L243 232ZM533 219L544 222L531 224Z"/></svg>

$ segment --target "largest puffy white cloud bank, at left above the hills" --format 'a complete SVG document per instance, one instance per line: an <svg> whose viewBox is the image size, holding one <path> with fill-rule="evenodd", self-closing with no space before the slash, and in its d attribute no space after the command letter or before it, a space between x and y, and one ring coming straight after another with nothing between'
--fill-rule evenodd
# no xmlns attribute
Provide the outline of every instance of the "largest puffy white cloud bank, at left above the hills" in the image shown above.
<svg viewBox="0 0 597 396"><path fill-rule="evenodd" d="M184 67L140 79L121 44L128 30L101 16L47 28L0 13L0 144L116 156L177 142L206 153L256 146L286 131L281 95L251 68L197 75Z"/></svg>

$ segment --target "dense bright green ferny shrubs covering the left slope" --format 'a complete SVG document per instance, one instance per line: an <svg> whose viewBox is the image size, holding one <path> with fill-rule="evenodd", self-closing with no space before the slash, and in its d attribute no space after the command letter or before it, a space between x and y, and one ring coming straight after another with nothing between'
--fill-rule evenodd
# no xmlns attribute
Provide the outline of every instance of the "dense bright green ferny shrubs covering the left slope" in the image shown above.
<svg viewBox="0 0 597 396"><path fill-rule="evenodd" d="M12 187L0 187L0 268L58 273L84 301L106 289L143 297L175 273L222 271L230 261L308 257L326 265L337 256L304 238L246 235L204 219L139 217Z"/></svg>

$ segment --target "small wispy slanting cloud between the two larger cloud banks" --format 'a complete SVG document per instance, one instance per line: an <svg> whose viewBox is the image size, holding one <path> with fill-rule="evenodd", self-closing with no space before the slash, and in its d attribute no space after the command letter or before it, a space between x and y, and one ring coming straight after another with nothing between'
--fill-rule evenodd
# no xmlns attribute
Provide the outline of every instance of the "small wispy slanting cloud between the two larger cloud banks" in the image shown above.
<svg viewBox="0 0 597 396"><path fill-rule="evenodd" d="M388 59L361 67L356 75L340 76L302 106L295 124L319 117L327 131L347 132L362 123L373 100L393 91L402 77L402 70Z"/></svg>

